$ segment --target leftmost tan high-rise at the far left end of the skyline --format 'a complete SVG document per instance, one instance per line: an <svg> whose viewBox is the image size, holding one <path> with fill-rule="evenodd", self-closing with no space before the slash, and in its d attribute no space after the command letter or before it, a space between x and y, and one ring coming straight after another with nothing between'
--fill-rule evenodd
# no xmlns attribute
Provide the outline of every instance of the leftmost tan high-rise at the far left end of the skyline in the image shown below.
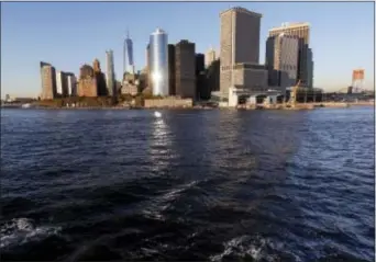
<svg viewBox="0 0 376 262"><path fill-rule="evenodd" d="M57 96L56 70L51 64L41 61L42 93L41 100L51 100Z"/></svg>

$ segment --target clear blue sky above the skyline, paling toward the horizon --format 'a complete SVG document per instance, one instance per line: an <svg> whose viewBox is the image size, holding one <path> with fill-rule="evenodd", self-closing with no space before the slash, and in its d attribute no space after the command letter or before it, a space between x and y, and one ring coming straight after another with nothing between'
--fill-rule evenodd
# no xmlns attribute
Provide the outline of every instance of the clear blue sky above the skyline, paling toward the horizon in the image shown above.
<svg viewBox="0 0 376 262"><path fill-rule="evenodd" d="M136 69L146 64L152 32L162 27L169 44L196 43L196 53L220 47L219 13L243 7L263 14L259 61L265 61L268 30L284 22L309 22L316 88L338 91L365 70L374 89L374 2L2 2L1 98L37 96L40 61L78 75L82 64L101 61L112 49L117 78L122 71L126 30L133 39Z"/></svg>

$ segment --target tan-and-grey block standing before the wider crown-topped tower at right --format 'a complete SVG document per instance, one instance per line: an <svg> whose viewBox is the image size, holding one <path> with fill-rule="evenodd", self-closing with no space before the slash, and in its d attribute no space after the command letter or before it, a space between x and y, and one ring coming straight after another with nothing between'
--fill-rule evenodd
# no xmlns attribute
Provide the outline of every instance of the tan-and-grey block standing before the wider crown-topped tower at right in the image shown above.
<svg viewBox="0 0 376 262"><path fill-rule="evenodd" d="M269 36L266 41L265 64L268 86L283 90L296 84L298 77L299 38L284 33Z"/></svg>

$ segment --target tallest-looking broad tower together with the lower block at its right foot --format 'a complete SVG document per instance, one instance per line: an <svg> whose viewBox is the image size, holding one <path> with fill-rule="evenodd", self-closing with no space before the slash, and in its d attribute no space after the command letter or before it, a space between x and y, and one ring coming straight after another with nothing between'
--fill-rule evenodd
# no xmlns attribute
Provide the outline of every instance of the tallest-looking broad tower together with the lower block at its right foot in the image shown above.
<svg viewBox="0 0 376 262"><path fill-rule="evenodd" d="M229 88L234 86L254 92L265 90L267 72L258 64L262 14L232 8L222 12L220 18L221 95L226 98Z"/></svg>

